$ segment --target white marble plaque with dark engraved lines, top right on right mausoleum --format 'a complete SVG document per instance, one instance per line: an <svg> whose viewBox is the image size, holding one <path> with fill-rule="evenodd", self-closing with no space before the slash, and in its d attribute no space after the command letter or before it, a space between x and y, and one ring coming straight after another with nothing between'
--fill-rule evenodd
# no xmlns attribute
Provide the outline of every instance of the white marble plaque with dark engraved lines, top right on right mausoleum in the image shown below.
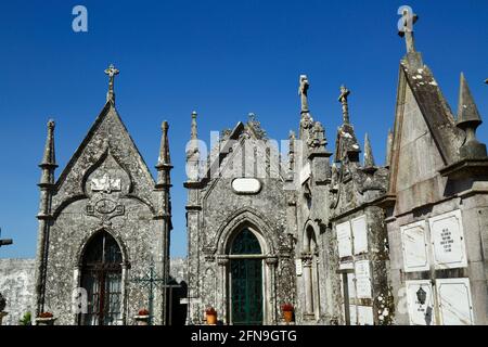
<svg viewBox="0 0 488 347"><path fill-rule="evenodd" d="M436 269L467 266L461 211L444 214L428 220Z"/></svg>

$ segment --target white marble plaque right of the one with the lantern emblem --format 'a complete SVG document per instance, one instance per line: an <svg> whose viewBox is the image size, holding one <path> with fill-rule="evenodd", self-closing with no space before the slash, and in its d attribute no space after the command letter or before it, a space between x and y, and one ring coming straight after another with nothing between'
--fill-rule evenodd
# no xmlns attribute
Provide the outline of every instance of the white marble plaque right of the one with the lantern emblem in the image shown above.
<svg viewBox="0 0 488 347"><path fill-rule="evenodd" d="M473 325L470 279L436 280L442 325Z"/></svg>

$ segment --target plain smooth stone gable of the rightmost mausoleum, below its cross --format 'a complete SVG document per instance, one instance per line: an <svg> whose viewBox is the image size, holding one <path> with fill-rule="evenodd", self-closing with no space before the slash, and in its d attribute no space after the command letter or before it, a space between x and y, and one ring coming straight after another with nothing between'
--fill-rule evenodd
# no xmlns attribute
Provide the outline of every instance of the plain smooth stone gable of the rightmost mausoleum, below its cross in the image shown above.
<svg viewBox="0 0 488 347"><path fill-rule="evenodd" d="M462 133L427 66L399 72L389 193L397 213L442 198L439 170L457 160Z"/></svg>

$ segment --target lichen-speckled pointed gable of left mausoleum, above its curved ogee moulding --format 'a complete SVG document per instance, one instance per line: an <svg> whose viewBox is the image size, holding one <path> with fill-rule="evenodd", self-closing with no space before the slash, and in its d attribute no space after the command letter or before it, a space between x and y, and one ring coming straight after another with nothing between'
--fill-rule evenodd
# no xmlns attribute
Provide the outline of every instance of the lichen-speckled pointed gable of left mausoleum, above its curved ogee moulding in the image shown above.
<svg viewBox="0 0 488 347"><path fill-rule="evenodd" d="M112 102L105 104L57 179L52 210L59 213L70 202L88 197L89 177L106 165L126 172L121 182L126 187L120 188L126 196L153 205L154 178Z"/></svg>

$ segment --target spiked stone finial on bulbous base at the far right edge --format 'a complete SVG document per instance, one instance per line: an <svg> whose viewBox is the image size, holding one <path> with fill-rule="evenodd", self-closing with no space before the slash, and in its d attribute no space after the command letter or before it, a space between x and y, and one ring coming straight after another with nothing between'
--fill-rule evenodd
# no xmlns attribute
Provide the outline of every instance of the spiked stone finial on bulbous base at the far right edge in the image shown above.
<svg viewBox="0 0 488 347"><path fill-rule="evenodd" d="M458 120L457 127L466 133L466 139L461 145L461 158L480 158L487 156L486 145L476 139L476 128L481 124L478 108L461 73L458 103Z"/></svg>

